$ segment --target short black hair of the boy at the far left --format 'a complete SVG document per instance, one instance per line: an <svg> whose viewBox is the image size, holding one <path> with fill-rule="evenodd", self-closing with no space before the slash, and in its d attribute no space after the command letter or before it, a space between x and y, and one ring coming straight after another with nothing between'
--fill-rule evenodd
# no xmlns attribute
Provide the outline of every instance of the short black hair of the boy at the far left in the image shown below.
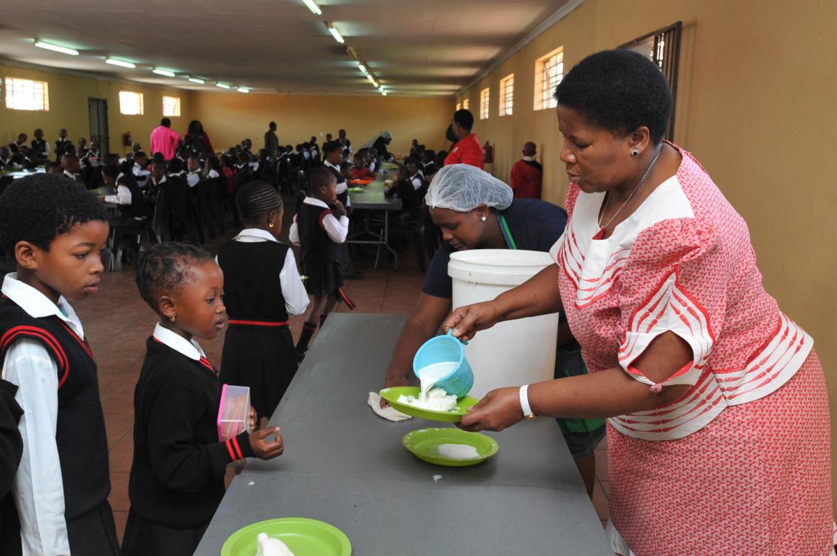
<svg viewBox="0 0 837 556"><path fill-rule="evenodd" d="M20 241L49 250L74 225L107 218L104 205L80 183L37 173L15 180L0 195L0 245L9 254Z"/></svg>

